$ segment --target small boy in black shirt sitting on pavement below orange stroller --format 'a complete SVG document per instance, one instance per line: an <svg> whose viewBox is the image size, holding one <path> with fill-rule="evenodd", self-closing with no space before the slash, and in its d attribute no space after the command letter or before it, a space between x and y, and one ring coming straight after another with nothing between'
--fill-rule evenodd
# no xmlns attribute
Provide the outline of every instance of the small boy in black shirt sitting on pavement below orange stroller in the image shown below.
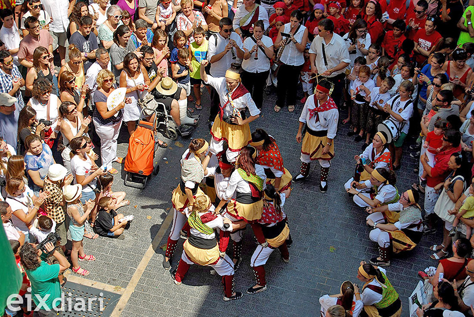
<svg viewBox="0 0 474 317"><path fill-rule="evenodd" d="M94 231L101 236L123 240L125 236L122 233L129 229L130 224L125 219L121 221L124 215L117 214L115 208L117 208L117 204L111 197L99 199L99 212L95 219Z"/></svg>

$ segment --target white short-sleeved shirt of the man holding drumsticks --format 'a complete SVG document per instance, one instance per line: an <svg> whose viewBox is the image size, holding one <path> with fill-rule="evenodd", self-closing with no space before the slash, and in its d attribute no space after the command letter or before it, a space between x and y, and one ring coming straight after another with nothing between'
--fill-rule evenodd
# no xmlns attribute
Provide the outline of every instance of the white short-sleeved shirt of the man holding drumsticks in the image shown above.
<svg viewBox="0 0 474 317"><path fill-rule="evenodd" d="M323 43L326 55L327 66L324 65L323 59ZM349 51L345 45L343 38L337 34L333 34L328 44L319 35L314 38L309 47L309 54L316 54L315 64L318 73L322 74L329 68L336 67L339 63L350 63ZM345 68L332 73L329 77L334 77L345 72Z"/></svg>

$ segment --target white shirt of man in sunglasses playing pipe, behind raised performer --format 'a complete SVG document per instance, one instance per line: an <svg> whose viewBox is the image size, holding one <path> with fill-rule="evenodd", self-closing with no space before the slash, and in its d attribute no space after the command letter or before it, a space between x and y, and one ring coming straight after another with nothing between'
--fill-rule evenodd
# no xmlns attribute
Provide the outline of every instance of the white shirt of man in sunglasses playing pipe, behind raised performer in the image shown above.
<svg viewBox="0 0 474 317"><path fill-rule="evenodd" d="M215 40L217 38L217 41ZM207 59L211 61L211 58L219 53L224 51L225 46L229 43L230 40L234 40L237 43L237 46L242 49L243 43L240 37L236 32L232 32L229 38L224 39L219 33L215 33L209 37L209 48L207 51ZM217 45L215 44L217 42ZM229 69L231 63L237 63L239 58L237 57L237 52L235 47L232 48L237 59L232 59L232 52L229 50L224 57L218 60L215 63L211 63L211 75L214 77L224 77L225 71Z"/></svg>

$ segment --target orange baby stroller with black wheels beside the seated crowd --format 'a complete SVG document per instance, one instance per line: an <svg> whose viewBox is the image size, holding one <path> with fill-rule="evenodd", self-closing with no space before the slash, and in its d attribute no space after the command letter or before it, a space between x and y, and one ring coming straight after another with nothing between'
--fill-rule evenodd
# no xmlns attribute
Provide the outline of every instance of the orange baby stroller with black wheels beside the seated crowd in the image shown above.
<svg viewBox="0 0 474 317"><path fill-rule="evenodd" d="M149 117L153 113L155 116L152 122L142 120L142 118ZM158 126L158 117L159 113L154 109L145 108L140 112L140 120L136 130L130 135L129 149L125 157L124 169L127 172L124 180L125 186L144 189L150 175L157 175L160 170L159 164L153 167L154 154L158 148L158 144L155 142L155 134L157 133L155 127ZM172 120L171 123L174 124ZM177 133L173 127L168 127L163 122L160 124L165 130L170 131L170 139L173 139L172 137L176 139Z"/></svg>

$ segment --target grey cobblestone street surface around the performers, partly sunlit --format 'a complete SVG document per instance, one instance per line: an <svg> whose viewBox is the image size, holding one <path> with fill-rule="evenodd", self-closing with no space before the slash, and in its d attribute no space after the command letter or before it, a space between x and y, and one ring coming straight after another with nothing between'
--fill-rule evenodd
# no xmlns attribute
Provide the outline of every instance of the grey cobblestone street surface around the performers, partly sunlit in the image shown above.
<svg viewBox="0 0 474 317"><path fill-rule="evenodd" d="M193 137L209 139L209 95L204 91L203 110L196 111L201 114L201 119ZM264 116L251 123L251 130L262 127L276 138L285 167L295 175L300 167L300 145L295 136L302 105L298 102L293 113L286 108L275 113L275 94L264 98ZM340 122L345 115L342 112ZM265 292L257 295L245 293L255 284L249 261L256 245L250 229L245 234L243 262L235 275L235 290L244 293L238 301L222 300L221 279L218 275L210 275L207 267L192 266L180 286L174 285L170 271L162 268L164 251L161 247L166 244L172 220L172 216L171 220L167 218L172 212L171 192L178 184L179 159L189 144L189 139L181 138L178 142L165 139L169 148L157 150L155 162L160 165L160 172L151 177L144 190L125 187L123 170L122 175L115 176L113 190L125 190L131 201L130 206L120 209L120 212L133 214L135 218L125 240L85 239L86 253L97 258L95 262L81 262L91 272L85 278L125 289L129 298L127 301L123 296L122 304L126 304L123 317L319 316L318 298L323 294L339 293L341 283L347 279L362 286L356 278L359 262L370 259L377 252L376 244L368 239L370 229L365 224L366 212L352 202L343 187L353 175L353 157L361 153L362 146L362 142L355 143L353 137L347 137L347 131L348 126L339 125L328 191L325 194L319 192L320 167L317 162L311 165L310 178L294 185L284 207L293 238L289 249L290 262L285 264L278 251L271 255L265 266L268 283ZM119 156L126 154L126 136L126 127L122 127ZM409 189L416 179L412 171L416 161L408 155L411 142L413 139L407 138L402 169L396 172L400 192ZM421 198L422 202L423 196ZM157 233L158 239L155 239ZM172 269L181 256L182 242L178 243ZM408 296L419 279L417 272L437 265L429 258L432 252L428 249L435 242L441 242L440 230L435 235L424 236L412 252L395 257L387 269L388 278L402 300L402 316L408 316ZM147 253L147 250L152 252Z"/></svg>

